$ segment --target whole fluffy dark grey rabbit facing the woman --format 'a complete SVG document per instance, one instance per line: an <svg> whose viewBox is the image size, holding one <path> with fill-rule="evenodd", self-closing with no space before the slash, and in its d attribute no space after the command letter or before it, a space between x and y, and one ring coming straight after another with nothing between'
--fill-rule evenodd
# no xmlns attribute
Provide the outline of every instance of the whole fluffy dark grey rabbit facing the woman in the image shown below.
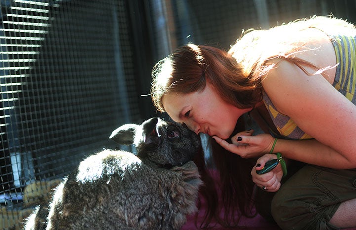
<svg viewBox="0 0 356 230"><path fill-rule="evenodd" d="M39 206L25 230L179 230L202 183L191 161L201 148L184 125L151 118L111 139L137 153L104 150L83 160Z"/></svg>

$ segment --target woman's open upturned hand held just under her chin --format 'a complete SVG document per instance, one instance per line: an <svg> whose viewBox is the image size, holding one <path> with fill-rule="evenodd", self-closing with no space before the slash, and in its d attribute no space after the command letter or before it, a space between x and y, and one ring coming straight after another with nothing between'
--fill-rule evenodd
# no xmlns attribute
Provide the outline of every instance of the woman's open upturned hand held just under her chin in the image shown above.
<svg viewBox="0 0 356 230"><path fill-rule="evenodd" d="M217 136L212 138L223 148L242 158L259 157L269 153L275 138L269 134L258 134L256 136L252 136L252 134L253 130L239 132L231 138L231 144Z"/></svg>

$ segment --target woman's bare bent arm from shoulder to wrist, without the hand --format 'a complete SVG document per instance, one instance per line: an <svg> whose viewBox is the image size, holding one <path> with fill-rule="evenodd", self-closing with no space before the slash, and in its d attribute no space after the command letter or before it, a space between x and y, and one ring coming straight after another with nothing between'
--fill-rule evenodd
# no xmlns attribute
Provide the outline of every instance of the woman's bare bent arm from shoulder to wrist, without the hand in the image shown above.
<svg viewBox="0 0 356 230"><path fill-rule="evenodd" d="M310 164L356 168L356 106L322 75L309 76L281 61L266 76L263 88L279 112L315 138L278 140L275 151Z"/></svg>

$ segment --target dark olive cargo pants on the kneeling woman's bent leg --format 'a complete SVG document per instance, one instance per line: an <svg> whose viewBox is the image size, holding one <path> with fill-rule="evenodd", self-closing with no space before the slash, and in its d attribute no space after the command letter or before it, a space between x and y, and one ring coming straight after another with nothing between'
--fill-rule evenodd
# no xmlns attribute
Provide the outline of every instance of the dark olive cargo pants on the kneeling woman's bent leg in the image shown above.
<svg viewBox="0 0 356 230"><path fill-rule="evenodd" d="M306 165L274 194L271 213L283 230L334 230L330 219L340 203L353 198L356 169Z"/></svg>

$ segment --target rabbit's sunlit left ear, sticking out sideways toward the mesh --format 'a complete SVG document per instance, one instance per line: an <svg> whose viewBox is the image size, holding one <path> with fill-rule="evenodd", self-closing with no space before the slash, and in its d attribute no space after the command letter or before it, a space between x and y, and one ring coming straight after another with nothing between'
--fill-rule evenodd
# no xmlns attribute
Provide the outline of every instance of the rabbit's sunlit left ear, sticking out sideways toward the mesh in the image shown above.
<svg viewBox="0 0 356 230"><path fill-rule="evenodd" d="M136 130L139 127L139 125L135 124L122 125L111 133L109 139L119 144L131 145L133 144Z"/></svg>

